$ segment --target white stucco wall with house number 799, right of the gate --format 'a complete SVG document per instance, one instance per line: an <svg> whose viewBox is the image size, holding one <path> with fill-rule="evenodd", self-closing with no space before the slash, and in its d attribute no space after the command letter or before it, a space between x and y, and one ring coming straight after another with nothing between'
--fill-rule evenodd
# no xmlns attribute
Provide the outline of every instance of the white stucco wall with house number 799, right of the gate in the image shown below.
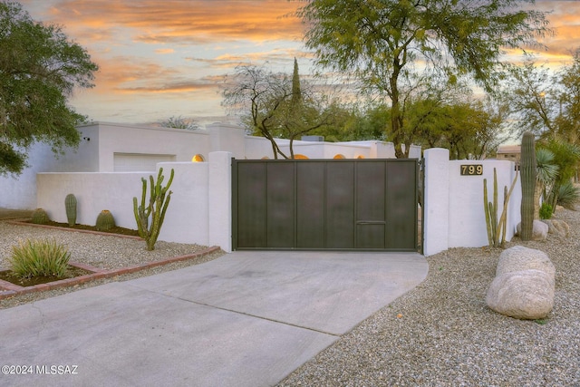
<svg viewBox="0 0 580 387"><path fill-rule="evenodd" d="M483 179L488 183L488 201L493 198L493 169L498 173L498 218L503 209L504 187L516 178L514 163L498 160L452 160L449 150L425 150L425 240L426 256L449 247L488 246ZM483 174L462 176L461 165L480 164ZM521 188L517 181L508 202L506 239L510 240L520 221Z"/></svg>

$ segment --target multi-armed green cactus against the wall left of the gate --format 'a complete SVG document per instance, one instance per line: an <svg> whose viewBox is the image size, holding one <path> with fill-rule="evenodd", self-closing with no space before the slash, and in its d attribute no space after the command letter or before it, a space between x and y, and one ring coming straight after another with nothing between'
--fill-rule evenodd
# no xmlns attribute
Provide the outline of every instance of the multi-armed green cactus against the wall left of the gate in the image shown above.
<svg viewBox="0 0 580 387"><path fill-rule="evenodd" d="M135 214L135 220L137 221L137 229L139 230L140 237L145 239L147 243L147 249L152 251L155 249L155 243L160 235L161 225L165 219L165 213L169 206L169 200L171 199L171 191L168 191L171 182L173 181L173 169L171 169L171 175L169 176L169 181L167 186L162 187L163 182L163 169L160 168L160 173L157 176L157 183L153 180L153 176L150 176L150 198L149 203L146 205L147 197L147 180L141 178L143 185L141 193L141 204L138 206L137 198L133 198L133 213ZM151 218L151 220L149 220Z"/></svg>

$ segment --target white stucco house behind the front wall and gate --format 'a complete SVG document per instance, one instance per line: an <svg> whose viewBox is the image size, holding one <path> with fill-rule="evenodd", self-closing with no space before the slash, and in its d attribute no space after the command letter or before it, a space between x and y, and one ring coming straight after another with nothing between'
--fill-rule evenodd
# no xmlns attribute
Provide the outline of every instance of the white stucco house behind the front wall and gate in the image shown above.
<svg viewBox="0 0 580 387"><path fill-rule="evenodd" d="M213 151L237 159L272 159L270 142L248 136L243 128L215 123L205 130L186 131L157 126L95 122L78 127L81 143L55 158L50 147L37 143L29 152L29 168L18 177L0 177L0 207L37 208L36 174L46 172L151 172L158 162L208 160ZM288 152L288 140L278 140ZM324 142L296 140L295 153L308 159L394 158L391 143L378 140ZM420 157L420 148L411 149Z"/></svg>

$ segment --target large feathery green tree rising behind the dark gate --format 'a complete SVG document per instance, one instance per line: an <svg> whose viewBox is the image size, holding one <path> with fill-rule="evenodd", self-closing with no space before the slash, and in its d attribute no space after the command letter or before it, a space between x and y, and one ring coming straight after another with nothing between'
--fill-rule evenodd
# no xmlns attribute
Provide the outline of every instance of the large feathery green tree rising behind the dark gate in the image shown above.
<svg viewBox="0 0 580 387"><path fill-rule="evenodd" d="M469 74L493 90L502 50L536 44L550 32L545 14L522 10L525 3L533 0L312 0L297 15L319 66L351 73L362 90L389 98L389 137L401 158L408 156L401 79L421 61L451 84Z"/></svg>

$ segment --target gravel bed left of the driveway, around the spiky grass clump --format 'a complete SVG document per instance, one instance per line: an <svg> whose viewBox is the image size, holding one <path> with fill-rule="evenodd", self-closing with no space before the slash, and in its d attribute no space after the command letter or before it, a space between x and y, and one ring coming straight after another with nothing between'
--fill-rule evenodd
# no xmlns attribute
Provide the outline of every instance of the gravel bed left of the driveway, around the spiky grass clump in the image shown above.
<svg viewBox="0 0 580 387"><path fill-rule="evenodd" d="M0 221L0 268L9 267L6 258L11 255L12 247L17 246L19 241L24 241L27 238L54 239L59 244L68 248L71 253L71 261L100 267L102 269L137 266L175 256L194 254L208 248L198 245L158 241L155 245L155 250L147 251L145 241L140 239L94 235L54 228L17 226L9 224L6 221ZM198 265L218 258L218 256L222 256L223 254L222 251L218 251L208 256L157 266L122 276L103 278L82 285L30 293L27 295L15 295L14 297L0 300L0 309L31 303L55 295L63 295L64 293L73 292L85 287L106 284L107 282L127 281L141 276L151 276L169 270L176 270L181 267ZM2 289L0 289L0 294L1 292Z"/></svg>

